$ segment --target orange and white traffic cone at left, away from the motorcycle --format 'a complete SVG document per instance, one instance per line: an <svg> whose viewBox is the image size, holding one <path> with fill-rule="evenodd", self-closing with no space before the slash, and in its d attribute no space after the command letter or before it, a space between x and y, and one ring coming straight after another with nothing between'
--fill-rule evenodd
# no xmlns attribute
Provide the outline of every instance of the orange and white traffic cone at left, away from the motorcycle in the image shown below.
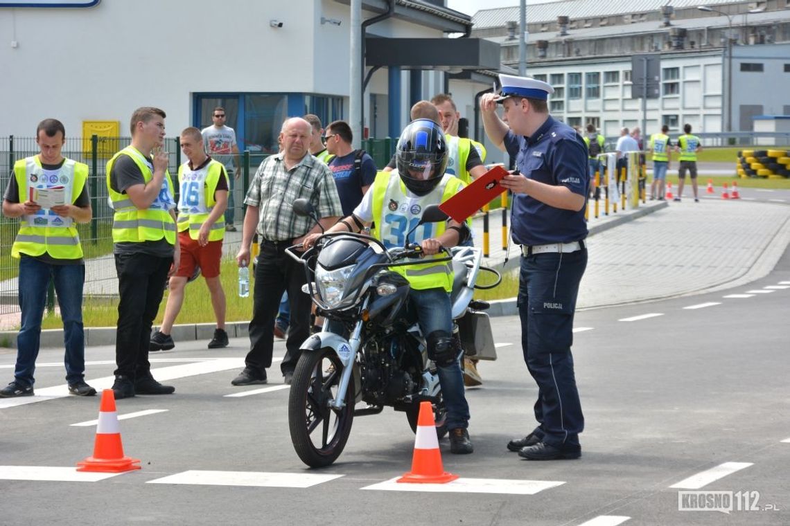
<svg viewBox="0 0 790 526"><path fill-rule="evenodd" d="M101 394L99 423L96 424L96 445L93 456L77 462L78 472L128 472L140 469L134 465L140 460L123 456L121 444L121 428L118 424L118 413L115 411L115 396L111 389Z"/></svg>

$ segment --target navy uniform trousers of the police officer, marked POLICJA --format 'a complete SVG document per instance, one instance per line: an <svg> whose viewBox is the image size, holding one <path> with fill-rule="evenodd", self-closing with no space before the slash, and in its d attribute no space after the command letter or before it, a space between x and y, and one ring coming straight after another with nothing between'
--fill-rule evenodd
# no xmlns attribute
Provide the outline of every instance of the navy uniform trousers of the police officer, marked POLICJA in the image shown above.
<svg viewBox="0 0 790 526"><path fill-rule="evenodd" d="M586 267L586 249L521 257L517 305L524 361L538 386L536 433L555 447L578 446L585 426L570 346Z"/></svg>

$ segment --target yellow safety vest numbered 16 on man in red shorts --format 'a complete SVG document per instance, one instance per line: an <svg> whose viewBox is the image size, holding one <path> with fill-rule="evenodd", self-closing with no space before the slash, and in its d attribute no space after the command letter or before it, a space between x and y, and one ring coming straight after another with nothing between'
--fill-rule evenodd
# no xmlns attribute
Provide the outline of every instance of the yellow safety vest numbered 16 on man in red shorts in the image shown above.
<svg viewBox="0 0 790 526"><path fill-rule="evenodd" d="M224 166L211 159L200 170L191 170L189 162L179 166L179 232L190 231L192 239L198 239L200 228L216 204L214 192L224 173ZM228 177L225 177L228 182ZM230 188L230 182L228 182ZM225 237L225 222L217 218L209 229L209 241L220 241Z"/></svg>

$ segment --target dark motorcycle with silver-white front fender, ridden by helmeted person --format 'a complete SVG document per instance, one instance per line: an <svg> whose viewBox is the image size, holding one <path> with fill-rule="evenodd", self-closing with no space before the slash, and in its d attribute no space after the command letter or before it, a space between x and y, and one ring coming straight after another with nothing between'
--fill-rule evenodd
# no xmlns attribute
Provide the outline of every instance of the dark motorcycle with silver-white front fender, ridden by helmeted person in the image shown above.
<svg viewBox="0 0 790 526"><path fill-rule="evenodd" d="M297 214L318 218L307 200L296 200ZM422 249L409 237L427 222L446 221L435 205L425 207L403 247L387 248L364 233L324 233L314 247L288 256L304 265L303 292L325 319L322 330L307 338L292 377L288 427L299 458L311 468L332 464L343 452L355 416L382 412L385 406L406 413L416 431L419 403L430 401L438 438L446 435L446 408L435 364L427 357L422 334L408 308L408 281L392 267L424 263ZM482 267L480 248L442 248L434 261L451 261L450 295L459 356L495 356L489 305L472 300L474 289L498 285L500 274ZM480 271L495 274L493 285L476 285ZM461 349L461 341L467 349ZM359 405L359 408L356 406ZM364 405L364 406L363 406Z"/></svg>

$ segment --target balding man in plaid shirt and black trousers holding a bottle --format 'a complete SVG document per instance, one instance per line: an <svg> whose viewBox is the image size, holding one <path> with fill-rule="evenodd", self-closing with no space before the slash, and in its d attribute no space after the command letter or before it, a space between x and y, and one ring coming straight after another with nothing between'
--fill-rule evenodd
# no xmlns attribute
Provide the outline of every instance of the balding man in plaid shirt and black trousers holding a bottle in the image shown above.
<svg viewBox="0 0 790 526"><path fill-rule="evenodd" d="M236 261L239 267L250 265L250 244L256 232L261 253L255 267L250 352L246 367L231 382L234 386L266 383L266 369L272 365L274 317L284 291L291 305L287 352L280 363L285 383L291 383L299 346L310 336L310 297L302 292L307 276L304 267L284 251L321 229L312 219L295 215L292 205L300 198L310 200L325 229L343 213L332 171L310 155L310 132L310 123L303 118L283 123L282 151L261 162L244 200L247 208Z"/></svg>

